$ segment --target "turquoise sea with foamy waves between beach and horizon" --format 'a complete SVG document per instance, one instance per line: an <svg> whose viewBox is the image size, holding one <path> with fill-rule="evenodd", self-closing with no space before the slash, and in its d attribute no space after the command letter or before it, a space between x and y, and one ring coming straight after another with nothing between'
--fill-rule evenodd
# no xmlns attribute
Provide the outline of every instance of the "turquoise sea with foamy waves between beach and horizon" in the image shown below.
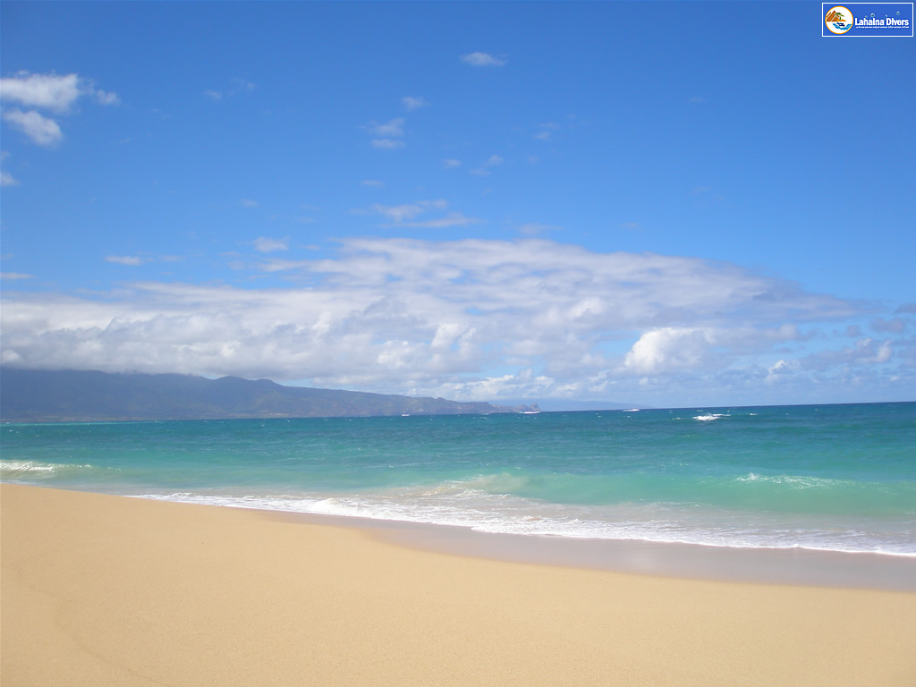
<svg viewBox="0 0 916 687"><path fill-rule="evenodd" d="M496 532L916 556L916 403L0 429L5 482Z"/></svg>

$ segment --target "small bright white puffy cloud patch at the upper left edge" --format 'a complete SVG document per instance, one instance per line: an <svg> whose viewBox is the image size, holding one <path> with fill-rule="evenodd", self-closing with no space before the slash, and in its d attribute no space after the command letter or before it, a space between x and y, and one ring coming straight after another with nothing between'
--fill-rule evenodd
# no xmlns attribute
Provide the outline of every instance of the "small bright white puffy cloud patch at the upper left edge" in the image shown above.
<svg viewBox="0 0 916 687"><path fill-rule="evenodd" d="M5 110L3 121L21 131L38 146L53 147L63 138L55 116L70 114L83 96L102 105L120 104L116 93L96 89L94 83L78 74L32 74L19 71L0 79L0 99L15 103ZM22 107L30 109L20 109ZM42 114L38 110L46 113Z"/></svg>

